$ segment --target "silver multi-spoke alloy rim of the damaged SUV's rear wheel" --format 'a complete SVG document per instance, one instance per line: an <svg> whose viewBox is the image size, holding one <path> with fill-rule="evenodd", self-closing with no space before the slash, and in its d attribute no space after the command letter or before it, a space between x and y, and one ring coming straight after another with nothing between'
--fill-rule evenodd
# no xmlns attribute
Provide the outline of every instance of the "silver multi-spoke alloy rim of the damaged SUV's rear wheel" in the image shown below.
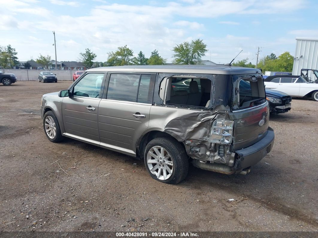
<svg viewBox="0 0 318 238"><path fill-rule="evenodd" d="M167 180L173 173L173 160L169 152L161 146L152 147L147 154L150 173L159 180Z"/></svg>

